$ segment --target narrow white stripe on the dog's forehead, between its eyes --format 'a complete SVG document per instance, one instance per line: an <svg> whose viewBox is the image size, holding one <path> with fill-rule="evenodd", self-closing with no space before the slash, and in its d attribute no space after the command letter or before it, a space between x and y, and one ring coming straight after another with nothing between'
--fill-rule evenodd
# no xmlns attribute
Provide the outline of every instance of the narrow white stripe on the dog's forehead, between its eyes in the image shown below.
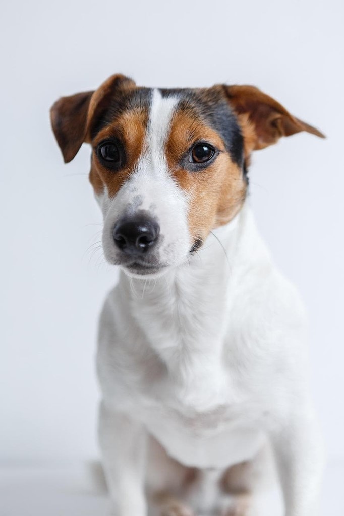
<svg viewBox="0 0 344 516"><path fill-rule="evenodd" d="M154 168L160 168L162 163L166 162L165 143L178 101L179 99L176 96L163 98L159 90L153 90L147 131L147 145Z"/></svg>

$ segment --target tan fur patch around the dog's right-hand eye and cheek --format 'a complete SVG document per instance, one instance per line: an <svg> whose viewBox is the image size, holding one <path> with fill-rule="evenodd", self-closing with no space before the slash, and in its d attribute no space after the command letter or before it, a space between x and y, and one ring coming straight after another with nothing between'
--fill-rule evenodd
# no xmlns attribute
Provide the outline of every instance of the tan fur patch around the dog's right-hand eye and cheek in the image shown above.
<svg viewBox="0 0 344 516"><path fill-rule="evenodd" d="M181 156L197 141L212 144L220 153L213 164L199 172L181 169ZM166 157L171 172L190 199L190 233L205 240L212 229L226 224L238 213L246 192L242 171L232 162L222 138L184 111L177 111L171 121Z"/></svg>

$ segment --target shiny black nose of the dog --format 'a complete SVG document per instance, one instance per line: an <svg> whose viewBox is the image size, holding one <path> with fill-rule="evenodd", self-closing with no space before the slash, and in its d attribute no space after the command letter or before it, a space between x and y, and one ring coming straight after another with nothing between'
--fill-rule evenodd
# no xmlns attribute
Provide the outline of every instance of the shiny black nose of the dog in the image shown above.
<svg viewBox="0 0 344 516"><path fill-rule="evenodd" d="M117 222L113 235L118 249L130 256L137 256L146 253L157 243L159 231L159 224L155 220L138 216Z"/></svg>

